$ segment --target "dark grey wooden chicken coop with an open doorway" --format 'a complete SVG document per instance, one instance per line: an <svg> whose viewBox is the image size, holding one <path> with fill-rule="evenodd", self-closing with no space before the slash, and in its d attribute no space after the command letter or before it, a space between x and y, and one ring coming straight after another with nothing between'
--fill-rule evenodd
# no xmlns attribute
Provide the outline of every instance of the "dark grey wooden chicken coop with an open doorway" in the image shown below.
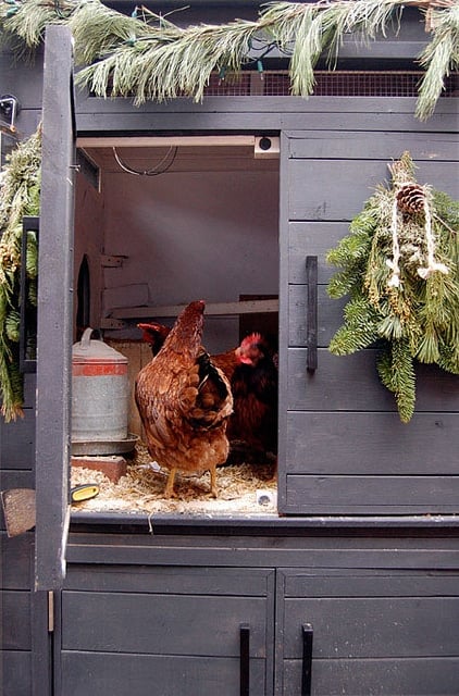
<svg viewBox="0 0 459 696"><path fill-rule="evenodd" d="M259 11L151 4L184 26ZM457 73L430 117L415 115L426 21L432 32L452 10L405 4L371 41L346 36L334 70L319 61L308 99L291 94L282 52L237 76L212 73L201 100L133 103L80 85L64 22L47 27L33 64L1 49L2 133L20 146L40 124L41 138L39 211L23 221L39 254L38 310L21 326L23 418L0 421L4 696L459 693L458 376L414 361L407 417L396 377L387 388L379 373L381 335L331 349L344 321L351 337L362 328L349 293L331 291L332 251L344 253L350 229L363 238L362 211L392 185L392 287L408 284L397 259L414 244L396 223L425 219L420 268L452 287L444 309L459 311ZM408 182L395 164L406 153ZM431 200L447 201L444 212L431 215ZM277 447L250 458L236 444L216 469L216 497L198 471L178 472L166 499L134 398L153 353L138 324L169 330L196 300L211 356L266 337ZM127 365L116 451L100 442L88 453L72 435L72 356L88 327ZM104 399L107 421L123 398ZM78 501L79 486L97 495ZM5 505L18 490L26 510Z"/></svg>

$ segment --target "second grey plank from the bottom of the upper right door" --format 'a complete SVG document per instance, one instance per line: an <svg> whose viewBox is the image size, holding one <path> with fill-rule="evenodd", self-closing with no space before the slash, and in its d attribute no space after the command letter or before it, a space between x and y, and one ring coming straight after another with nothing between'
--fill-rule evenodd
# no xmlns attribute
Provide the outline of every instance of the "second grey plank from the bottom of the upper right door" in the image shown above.
<svg viewBox="0 0 459 696"><path fill-rule="evenodd" d="M456 413L418 412L411 421L415 437L404 439L406 428L396 412L382 412L375 420L374 413L365 412L290 411L287 470L290 474L322 475L457 475Z"/></svg>

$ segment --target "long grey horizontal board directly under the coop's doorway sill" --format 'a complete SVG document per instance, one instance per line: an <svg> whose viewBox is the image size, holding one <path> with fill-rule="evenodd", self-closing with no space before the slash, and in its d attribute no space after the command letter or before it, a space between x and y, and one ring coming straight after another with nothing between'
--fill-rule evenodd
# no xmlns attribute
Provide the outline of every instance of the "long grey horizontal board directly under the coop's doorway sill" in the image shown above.
<svg viewBox="0 0 459 696"><path fill-rule="evenodd" d="M145 524L148 525L148 515L144 517ZM169 523L174 524L174 518L166 518ZM153 564L154 567L161 566L193 566L197 568L202 567L234 567L233 563L225 562L227 559L231 559L233 552L247 552L253 554L255 558L262 558L264 555L265 561L264 566L266 567L275 567L275 566L288 566L284 561L280 562L278 559L274 560L273 563L266 563L266 559L270 558L270 554L275 552L276 549L281 549L284 551L291 550L295 554L301 554L303 549L308 551L311 549L322 550L325 555L330 552L330 550L335 551L339 549L347 549L347 552L351 554L353 550L360 551L361 549L373 550L390 550L398 557L398 551L401 552L398 560L401 562L404 560L405 551L419 551L421 554L419 560L423 558L423 554L433 552L434 555L430 559L430 562L435 566L438 562L438 559L435 557L436 551L456 551L458 554L459 561L459 543L458 543L458 520L457 518L435 518L435 524L427 524L424 529L423 523L425 522L424 518L410 520L410 525L408 526L408 531L404 527L405 519L396 519L392 520L390 524L383 524L383 522L387 522L384 519L379 520L381 522L382 535L384 538L374 538L374 525L373 518L365 518L364 523L360 525L360 534L356 537L348 537L349 529L358 529L356 526L356 522L362 522L361 520L355 520L352 517L345 518L345 526L344 530L340 525L342 519L328 519L321 521L319 525L322 534L314 534L313 531L317 530L317 520L310 518L299 517L298 519L284 520L280 519L280 525L282 522L286 522L289 526L291 522L294 522L294 529L297 531L294 535L286 534L277 534L276 524L272 524L273 521L277 520L276 515L273 515L272 519L263 518L263 521L260 523L257 521L256 530L252 530L252 533L238 532L238 529L235 526L232 527L231 523L228 524L228 520L222 520L221 518L212 520L210 530L206 532L200 532L198 534L191 534L188 531L188 524L185 525L184 532L181 534L178 532L169 533L165 531L154 531L154 521L153 521L153 533L146 534L144 532L137 534L129 534L122 530L119 530L117 523L114 524L115 531L100 531L97 529L91 529L90 531L78 531L71 532L70 535L70 545L69 551L72 552L70 560L72 563L92 563L94 555L92 548L96 548L99 552L102 547L107 549L107 552L110 554L112 550L117 550L116 547L120 547L122 552L127 552L131 556L131 562L134 564L141 563L144 554L151 549L152 554L156 554L160 549L170 550L174 554L176 563L172 562L172 559L169 559L166 563L162 562L153 562L151 563L150 558L148 558L147 566ZM165 527L168 529L168 522ZM389 521L390 522L390 521ZM230 526L231 533L219 532L219 527ZM268 533L266 527L268 526ZM282 525L283 526L283 525ZM78 529L78 527L76 527ZM193 524L191 524L193 529ZM380 529L380 526L377 527ZM420 530L420 533L417 536L412 536L413 530ZM272 533L270 533L272 531ZM388 537L388 538L385 538ZM190 544L190 539L193 539L193 544ZM188 558L186 562L182 562L181 554L188 554ZM87 560L85 560L85 555L87 556ZM211 563L212 555L215 556L215 563ZM202 558L201 558L202 557ZM195 562L190 562L189 559L194 558ZM247 556L249 558L249 556ZM276 557L274 556L274 559ZM110 566L113 563L110 560ZM116 564L117 562L115 562ZM124 566L125 563L121 563ZM127 563L128 564L128 563ZM100 566L100 561L99 561ZM243 567L259 568L259 563L246 563L243 562ZM294 563L297 567L297 563ZM308 563L302 562L302 566L307 567ZM348 566L346 566L348 568ZM404 568L404 566L401 566ZM444 568L442 566L442 568Z"/></svg>

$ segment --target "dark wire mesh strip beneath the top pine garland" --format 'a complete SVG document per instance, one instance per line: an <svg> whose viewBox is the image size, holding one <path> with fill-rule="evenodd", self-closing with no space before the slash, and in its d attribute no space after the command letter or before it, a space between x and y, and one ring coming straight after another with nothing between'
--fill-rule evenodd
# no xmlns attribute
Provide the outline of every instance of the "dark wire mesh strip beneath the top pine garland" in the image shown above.
<svg viewBox="0 0 459 696"><path fill-rule="evenodd" d="M442 97L459 94L459 73L445 80ZM421 71L317 71L314 95L318 97L417 97ZM288 97L287 71L243 72L239 75L211 76L206 96Z"/></svg>

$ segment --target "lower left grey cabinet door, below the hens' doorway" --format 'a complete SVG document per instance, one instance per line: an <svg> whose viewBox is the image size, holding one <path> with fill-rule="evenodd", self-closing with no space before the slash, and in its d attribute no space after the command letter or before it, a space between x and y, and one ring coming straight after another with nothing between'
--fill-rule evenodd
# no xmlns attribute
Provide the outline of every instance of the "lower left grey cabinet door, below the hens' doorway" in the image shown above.
<svg viewBox="0 0 459 696"><path fill-rule="evenodd" d="M62 693L271 694L273 573L87 567L62 596ZM268 610L268 607L270 609Z"/></svg>

